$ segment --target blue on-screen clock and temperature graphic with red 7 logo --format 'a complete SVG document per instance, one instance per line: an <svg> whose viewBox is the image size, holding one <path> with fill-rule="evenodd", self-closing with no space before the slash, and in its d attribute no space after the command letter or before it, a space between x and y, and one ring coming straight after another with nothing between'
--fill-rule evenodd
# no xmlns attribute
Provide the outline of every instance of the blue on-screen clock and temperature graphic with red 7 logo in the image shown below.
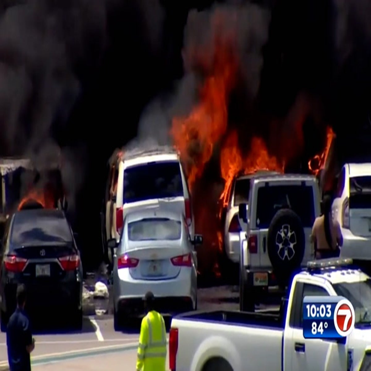
<svg viewBox="0 0 371 371"><path fill-rule="evenodd" d="M353 305L342 296L305 296L303 300L304 338L343 338L352 332L354 322Z"/></svg>

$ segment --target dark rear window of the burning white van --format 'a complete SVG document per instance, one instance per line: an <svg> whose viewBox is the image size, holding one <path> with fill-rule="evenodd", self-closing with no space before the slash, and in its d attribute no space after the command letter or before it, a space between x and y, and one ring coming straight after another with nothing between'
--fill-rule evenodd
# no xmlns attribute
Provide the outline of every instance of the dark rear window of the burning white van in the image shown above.
<svg viewBox="0 0 371 371"><path fill-rule="evenodd" d="M178 161L129 167L124 173L124 204L184 196Z"/></svg>

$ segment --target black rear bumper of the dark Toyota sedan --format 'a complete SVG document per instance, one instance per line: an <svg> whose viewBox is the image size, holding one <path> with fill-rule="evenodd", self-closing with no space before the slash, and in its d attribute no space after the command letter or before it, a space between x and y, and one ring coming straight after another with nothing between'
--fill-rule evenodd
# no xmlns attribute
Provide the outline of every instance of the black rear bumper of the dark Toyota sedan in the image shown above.
<svg viewBox="0 0 371 371"><path fill-rule="evenodd" d="M61 281L41 280L27 282L26 280L8 280L2 288L1 303L6 313L13 313L16 308L17 285L24 283L27 290L26 310L29 313L53 310L65 312L66 310L82 309L82 281L70 277Z"/></svg>

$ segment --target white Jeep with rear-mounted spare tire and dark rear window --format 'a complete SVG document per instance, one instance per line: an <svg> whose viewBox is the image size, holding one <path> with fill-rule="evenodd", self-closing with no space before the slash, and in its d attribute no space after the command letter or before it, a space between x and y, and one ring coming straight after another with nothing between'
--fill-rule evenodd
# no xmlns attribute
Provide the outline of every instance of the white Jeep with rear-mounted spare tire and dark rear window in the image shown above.
<svg viewBox="0 0 371 371"><path fill-rule="evenodd" d="M267 290L286 289L292 276L314 257L312 226L321 209L317 180L311 175L253 177L247 223L240 233L240 310L254 311Z"/></svg>

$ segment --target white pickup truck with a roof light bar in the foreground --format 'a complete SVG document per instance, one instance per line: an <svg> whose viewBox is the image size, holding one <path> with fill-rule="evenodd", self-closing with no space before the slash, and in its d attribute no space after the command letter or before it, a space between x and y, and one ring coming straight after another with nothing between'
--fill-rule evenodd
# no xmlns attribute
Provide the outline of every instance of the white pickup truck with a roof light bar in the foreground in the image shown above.
<svg viewBox="0 0 371 371"><path fill-rule="evenodd" d="M192 312L171 321L171 371L370 371L371 278L349 259L318 260L298 273L280 313ZM305 339L303 298L344 296L355 309L347 338ZM370 313L370 314L369 314Z"/></svg>

